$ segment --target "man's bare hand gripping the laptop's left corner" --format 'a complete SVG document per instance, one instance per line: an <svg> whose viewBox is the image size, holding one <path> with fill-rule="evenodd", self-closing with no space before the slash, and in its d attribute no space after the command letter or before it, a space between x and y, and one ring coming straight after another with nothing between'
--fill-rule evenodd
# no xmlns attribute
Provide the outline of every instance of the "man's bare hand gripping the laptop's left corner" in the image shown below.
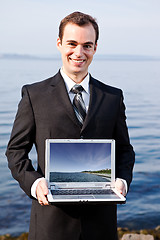
<svg viewBox="0 0 160 240"><path fill-rule="evenodd" d="M39 204L43 205L49 205L47 194L48 194L48 185L46 179L42 179L39 181L37 188L36 188L36 195Z"/></svg>

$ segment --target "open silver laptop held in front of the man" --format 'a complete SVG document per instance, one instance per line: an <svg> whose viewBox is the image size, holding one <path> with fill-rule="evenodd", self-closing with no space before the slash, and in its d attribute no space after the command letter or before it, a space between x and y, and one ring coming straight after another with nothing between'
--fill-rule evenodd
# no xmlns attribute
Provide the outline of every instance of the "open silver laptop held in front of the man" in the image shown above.
<svg viewBox="0 0 160 240"><path fill-rule="evenodd" d="M125 203L114 187L115 140L47 139L50 203Z"/></svg>

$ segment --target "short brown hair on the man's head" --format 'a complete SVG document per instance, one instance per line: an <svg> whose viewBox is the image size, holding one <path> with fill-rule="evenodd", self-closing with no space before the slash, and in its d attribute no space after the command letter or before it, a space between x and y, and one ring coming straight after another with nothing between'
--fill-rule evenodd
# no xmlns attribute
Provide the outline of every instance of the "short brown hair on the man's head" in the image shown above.
<svg viewBox="0 0 160 240"><path fill-rule="evenodd" d="M59 38L61 41L63 38L64 28L68 23L73 23L78 26L92 24L92 26L95 30L95 33L96 33L95 43L97 43L98 38L99 38L99 27L98 27L98 24L97 24L95 18L91 17L88 14L84 14L82 12L73 12L73 13L69 14L68 16L66 16L64 19L62 19L62 21L60 22L60 25L59 25Z"/></svg>

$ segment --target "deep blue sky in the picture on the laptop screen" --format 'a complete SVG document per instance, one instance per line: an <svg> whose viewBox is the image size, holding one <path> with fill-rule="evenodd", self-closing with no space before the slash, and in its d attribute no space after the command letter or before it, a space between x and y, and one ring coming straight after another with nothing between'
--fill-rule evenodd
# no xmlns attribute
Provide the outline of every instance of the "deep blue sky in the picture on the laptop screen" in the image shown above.
<svg viewBox="0 0 160 240"><path fill-rule="evenodd" d="M110 143L53 143L51 172L96 171L111 168Z"/></svg>

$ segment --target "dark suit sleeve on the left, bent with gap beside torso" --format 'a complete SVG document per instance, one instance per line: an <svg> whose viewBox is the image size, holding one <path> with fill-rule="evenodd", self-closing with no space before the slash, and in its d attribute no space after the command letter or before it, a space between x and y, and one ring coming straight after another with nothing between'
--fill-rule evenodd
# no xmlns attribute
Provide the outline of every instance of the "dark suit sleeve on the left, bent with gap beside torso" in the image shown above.
<svg viewBox="0 0 160 240"><path fill-rule="evenodd" d="M24 192L31 197L33 182L42 177L33 168L29 152L35 142L35 120L27 87L22 88L22 99L14 121L6 156L12 176L19 182Z"/></svg>

